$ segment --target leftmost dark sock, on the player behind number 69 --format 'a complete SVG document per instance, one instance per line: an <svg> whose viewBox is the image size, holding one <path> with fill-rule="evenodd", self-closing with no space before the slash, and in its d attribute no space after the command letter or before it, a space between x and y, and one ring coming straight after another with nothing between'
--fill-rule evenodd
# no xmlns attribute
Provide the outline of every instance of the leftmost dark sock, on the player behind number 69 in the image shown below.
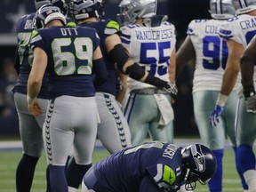
<svg viewBox="0 0 256 192"><path fill-rule="evenodd" d="M39 157L24 154L16 170L17 192L29 192Z"/></svg>

